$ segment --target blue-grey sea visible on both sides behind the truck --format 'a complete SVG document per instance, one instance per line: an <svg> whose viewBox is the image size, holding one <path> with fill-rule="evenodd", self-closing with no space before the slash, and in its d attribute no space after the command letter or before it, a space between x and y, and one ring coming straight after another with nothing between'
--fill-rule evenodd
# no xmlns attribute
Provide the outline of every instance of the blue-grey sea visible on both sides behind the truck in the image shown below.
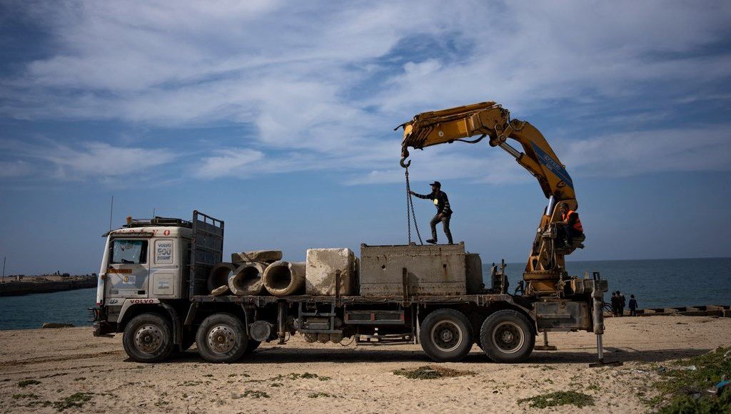
<svg viewBox="0 0 731 414"><path fill-rule="evenodd" d="M483 265L485 285L491 264ZM512 293L522 277L524 263L507 265ZM657 260L572 261L569 275L599 272L609 289L629 301L634 294L640 309L702 304L731 305L731 258L674 258ZM610 293L605 294L609 301ZM88 307L94 307L96 288L50 294L0 296L0 330L36 329L45 322L89 326Z"/></svg>

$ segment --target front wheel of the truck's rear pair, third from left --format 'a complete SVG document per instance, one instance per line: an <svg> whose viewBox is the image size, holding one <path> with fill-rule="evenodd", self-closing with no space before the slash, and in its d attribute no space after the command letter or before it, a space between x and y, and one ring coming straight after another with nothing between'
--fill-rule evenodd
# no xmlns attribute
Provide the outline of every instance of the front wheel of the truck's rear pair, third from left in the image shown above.
<svg viewBox="0 0 731 414"><path fill-rule="evenodd" d="M472 348L469 319L453 309L439 309L427 315L421 324L421 348L437 362L461 361Z"/></svg>

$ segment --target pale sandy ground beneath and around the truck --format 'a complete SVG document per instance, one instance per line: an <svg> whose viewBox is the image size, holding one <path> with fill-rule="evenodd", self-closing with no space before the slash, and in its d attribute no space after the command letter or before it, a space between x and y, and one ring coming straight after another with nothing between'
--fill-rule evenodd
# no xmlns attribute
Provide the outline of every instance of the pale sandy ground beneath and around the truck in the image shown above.
<svg viewBox="0 0 731 414"><path fill-rule="evenodd" d="M194 350L162 364L139 364L127 359L121 334L94 338L90 328L0 331L0 412L56 413L76 393L89 394L68 400L81 407L66 412L645 412L642 399L654 396L658 367L731 345L731 318L609 318L606 359L623 361L622 367L588 367L596 358L595 338L587 332L550 334L558 351L534 351L523 364L492 363L477 347L463 362L435 364L419 345L356 348L308 344L299 335L286 345L262 344L237 364L207 364ZM424 365L474 375L412 380L393 374ZM306 372L317 377L289 375ZM21 387L21 380L39 383ZM539 410L518 404L520 398L567 390L594 396L595 406Z"/></svg>

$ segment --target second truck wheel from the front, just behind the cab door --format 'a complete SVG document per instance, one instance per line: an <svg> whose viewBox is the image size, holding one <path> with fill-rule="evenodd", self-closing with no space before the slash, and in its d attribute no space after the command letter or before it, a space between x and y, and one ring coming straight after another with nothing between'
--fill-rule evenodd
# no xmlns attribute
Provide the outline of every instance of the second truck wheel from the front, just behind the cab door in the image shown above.
<svg viewBox="0 0 731 414"><path fill-rule="evenodd" d="M202 359L230 363L240 359L246 352L249 338L239 318L230 313L216 313L200 324L196 343Z"/></svg>

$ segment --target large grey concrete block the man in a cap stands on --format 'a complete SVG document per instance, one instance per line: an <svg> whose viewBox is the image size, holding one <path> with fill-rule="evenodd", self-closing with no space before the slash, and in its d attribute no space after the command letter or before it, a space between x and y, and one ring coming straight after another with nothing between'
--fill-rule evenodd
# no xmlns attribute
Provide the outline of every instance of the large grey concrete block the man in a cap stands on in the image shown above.
<svg viewBox="0 0 731 414"><path fill-rule="evenodd" d="M360 294L363 296L459 296L466 293L464 243L360 245Z"/></svg>

